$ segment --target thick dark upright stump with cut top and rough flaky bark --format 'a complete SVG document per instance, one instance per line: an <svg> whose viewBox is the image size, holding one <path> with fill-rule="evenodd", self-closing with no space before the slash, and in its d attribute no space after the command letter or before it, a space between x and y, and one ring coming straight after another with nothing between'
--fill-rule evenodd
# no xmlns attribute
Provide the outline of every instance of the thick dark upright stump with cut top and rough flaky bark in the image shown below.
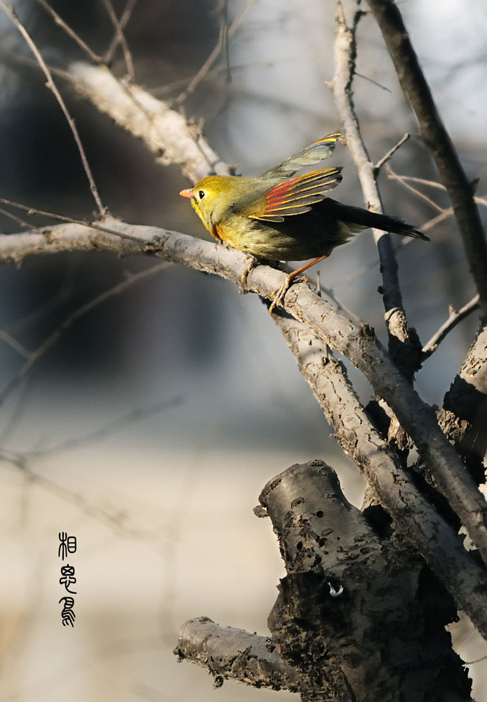
<svg viewBox="0 0 487 702"><path fill-rule="evenodd" d="M307 700L469 700L469 680L444 625L455 608L420 559L380 539L321 461L293 465L260 496L287 575L269 615Z"/></svg>

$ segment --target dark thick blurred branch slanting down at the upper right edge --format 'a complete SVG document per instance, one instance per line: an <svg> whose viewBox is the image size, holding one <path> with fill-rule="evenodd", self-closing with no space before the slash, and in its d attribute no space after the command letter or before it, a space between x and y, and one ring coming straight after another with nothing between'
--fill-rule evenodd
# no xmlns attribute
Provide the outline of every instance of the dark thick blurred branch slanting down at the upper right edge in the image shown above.
<svg viewBox="0 0 487 702"><path fill-rule="evenodd" d="M403 93L420 125L422 139L432 154L462 234L470 270L479 292L481 314L487 320L487 241L474 189L469 183L450 135L436 109L401 12L394 0L368 0L396 68Z"/></svg>

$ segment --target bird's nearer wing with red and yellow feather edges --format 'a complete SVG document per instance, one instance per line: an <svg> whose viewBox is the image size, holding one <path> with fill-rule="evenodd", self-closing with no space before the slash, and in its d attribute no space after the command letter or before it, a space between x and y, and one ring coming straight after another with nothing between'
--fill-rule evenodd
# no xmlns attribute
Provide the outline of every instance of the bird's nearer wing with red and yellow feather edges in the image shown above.
<svg viewBox="0 0 487 702"><path fill-rule="evenodd" d="M341 168L305 173L298 178L274 185L263 197L248 205L239 214L264 222L283 222L284 217L309 212L312 205L324 199L324 193L340 183Z"/></svg>

